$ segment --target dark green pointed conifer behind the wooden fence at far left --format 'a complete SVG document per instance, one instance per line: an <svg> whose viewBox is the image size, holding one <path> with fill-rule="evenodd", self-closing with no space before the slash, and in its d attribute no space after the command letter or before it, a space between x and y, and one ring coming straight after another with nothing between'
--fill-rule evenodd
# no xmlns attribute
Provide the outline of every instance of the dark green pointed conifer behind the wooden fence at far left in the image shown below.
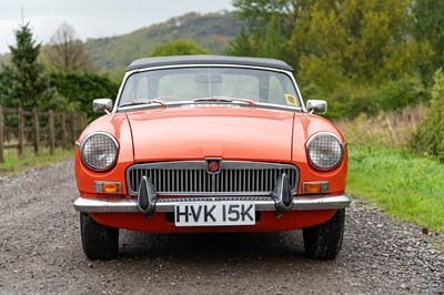
<svg viewBox="0 0 444 295"><path fill-rule="evenodd" d="M6 67L0 81L0 105L23 109L58 106L56 90L49 87L43 67L37 62L41 44L32 40L29 23L14 32L17 47L10 45L11 67Z"/></svg>

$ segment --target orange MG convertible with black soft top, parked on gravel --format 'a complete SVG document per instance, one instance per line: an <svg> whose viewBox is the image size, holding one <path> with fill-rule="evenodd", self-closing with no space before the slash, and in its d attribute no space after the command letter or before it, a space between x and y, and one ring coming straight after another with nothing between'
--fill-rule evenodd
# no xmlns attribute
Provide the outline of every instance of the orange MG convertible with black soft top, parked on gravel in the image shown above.
<svg viewBox="0 0 444 295"><path fill-rule="evenodd" d="M119 228L155 233L303 230L305 252L340 252L347 149L302 101L285 62L140 59L75 148L84 254L112 258Z"/></svg>

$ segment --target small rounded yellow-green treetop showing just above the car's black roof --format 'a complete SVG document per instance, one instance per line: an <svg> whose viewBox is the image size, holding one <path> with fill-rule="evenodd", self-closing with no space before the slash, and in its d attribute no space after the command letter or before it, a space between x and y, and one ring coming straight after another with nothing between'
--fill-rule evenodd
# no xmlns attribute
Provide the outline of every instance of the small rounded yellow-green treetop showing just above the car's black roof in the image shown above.
<svg viewBox="0 0 444 295"><path fill-rule="evenodd" d="M150 57L191 54L209 54L209 52L192 40L179 39L154 48L154 50L150 53Z"/></svg>

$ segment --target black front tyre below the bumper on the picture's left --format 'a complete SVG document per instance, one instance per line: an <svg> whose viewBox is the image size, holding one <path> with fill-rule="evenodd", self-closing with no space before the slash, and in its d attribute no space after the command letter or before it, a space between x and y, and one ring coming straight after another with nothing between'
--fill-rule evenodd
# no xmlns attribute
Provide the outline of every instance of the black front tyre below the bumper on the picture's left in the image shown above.
<svg viewBox="0 0 444 295"><path fill-rule="evenodd" d="M83 253L90 260L111 260L119 251L119 228L97 223L88 213L80 213Z"/></svg>

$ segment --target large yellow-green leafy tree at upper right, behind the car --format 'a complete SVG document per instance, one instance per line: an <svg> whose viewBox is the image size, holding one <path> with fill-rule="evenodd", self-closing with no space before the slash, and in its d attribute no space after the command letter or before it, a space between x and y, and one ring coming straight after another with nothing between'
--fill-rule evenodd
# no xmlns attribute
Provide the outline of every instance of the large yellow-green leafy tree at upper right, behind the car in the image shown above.
<svg viewBox="0 0 444 295"><path fill-rule="evenodd" d="M311 7L304 38L311 52L303 53L301 67L312 71L313 64L325 63L353 83L376 84L415 71L418 44L408 38L410 0L339 2ZM297 42L299 35L293 35L292 43Z"/></svg>

